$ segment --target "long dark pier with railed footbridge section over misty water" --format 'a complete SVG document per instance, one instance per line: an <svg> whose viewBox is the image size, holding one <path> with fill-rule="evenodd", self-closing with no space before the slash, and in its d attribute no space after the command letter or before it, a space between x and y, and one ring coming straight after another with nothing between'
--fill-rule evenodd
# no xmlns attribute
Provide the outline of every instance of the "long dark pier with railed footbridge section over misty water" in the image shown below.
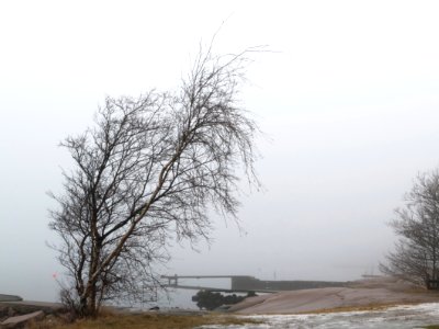
<svg viewBox="0 0 439 329"><path fill-rule="evenodd" d="M346 282L333 281L263 281L250 275L161 275L161 279L168 280L167 287L211 291L224 293L277 293L282 291L297 291L319 287L340 287L346 286ZM184 279L230 279L230 288L217 288L206 286L181 285L179 280Z"/></svg>

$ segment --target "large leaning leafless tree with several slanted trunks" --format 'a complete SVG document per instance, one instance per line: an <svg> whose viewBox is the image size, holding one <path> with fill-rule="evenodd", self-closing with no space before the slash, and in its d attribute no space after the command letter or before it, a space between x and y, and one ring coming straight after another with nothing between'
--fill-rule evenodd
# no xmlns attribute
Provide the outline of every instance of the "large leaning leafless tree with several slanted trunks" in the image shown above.
<svg viewBox="0 0 439 329"><path fill-rule="evenodd" d="M169 237L207 238L212 205L235 217L240 169L258 185L257 126L239 103L247 52L200 53L177 93L108 98L93 127L61 145L75 160L53 195L50 228L80 315L102 300L145 297Z"/></svg>

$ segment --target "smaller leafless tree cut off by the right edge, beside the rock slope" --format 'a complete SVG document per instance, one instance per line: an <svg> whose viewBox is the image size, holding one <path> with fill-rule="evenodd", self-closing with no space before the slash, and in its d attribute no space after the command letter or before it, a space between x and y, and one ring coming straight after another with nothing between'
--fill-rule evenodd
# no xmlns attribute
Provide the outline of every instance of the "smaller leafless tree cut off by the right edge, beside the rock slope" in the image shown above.
<svg viewBox="0 0 439 329"><path fill-rule="evenodd" d="M381 270L430 288L439 280L439 171L419 174L391 227L399 236Z"/></svg>

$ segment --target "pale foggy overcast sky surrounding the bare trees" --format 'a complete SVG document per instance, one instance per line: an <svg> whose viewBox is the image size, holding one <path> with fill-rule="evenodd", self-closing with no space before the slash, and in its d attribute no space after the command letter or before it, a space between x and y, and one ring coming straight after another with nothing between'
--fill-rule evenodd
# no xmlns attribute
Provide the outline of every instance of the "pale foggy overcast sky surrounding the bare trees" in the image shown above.
<svg viewBox="0 0 439 329"><path fill-rule="evenodd" d="M1 1L0 293L55 299L46 247L57 145L105 95L176 88L199 44L255 55L243 93L269 138L266 192L239 230L173 248L169 274L354 280L392 248L385 223L419 171L439 164L437 1Z"/></svg>

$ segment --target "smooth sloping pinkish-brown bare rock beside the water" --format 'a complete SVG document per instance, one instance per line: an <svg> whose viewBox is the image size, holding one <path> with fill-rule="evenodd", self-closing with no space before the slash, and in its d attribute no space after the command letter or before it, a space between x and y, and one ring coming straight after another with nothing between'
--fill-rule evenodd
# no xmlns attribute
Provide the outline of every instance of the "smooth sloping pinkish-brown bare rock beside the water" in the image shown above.
<svg viewBox="0 0 439 329"><path fill-rule="evenodd" d="M427 291L395 277L374 277L342 287L280 292L250 297L234 305L237 314L304 314L361 309L386 305L439 302L439 292Z"/></svg>

